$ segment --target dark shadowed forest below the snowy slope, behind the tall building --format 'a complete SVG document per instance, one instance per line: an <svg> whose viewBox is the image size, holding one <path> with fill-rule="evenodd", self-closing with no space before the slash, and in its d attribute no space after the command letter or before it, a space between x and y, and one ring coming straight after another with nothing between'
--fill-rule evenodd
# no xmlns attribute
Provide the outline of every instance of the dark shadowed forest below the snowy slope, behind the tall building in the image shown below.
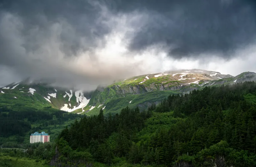
<svg viewBox="0 0 256 167"><path fill-rule="evenodd" d="M29 131L33 133L38 130L31 128L32 123L40 123L42 127L47 127L48 125L62 124L78 117L83 117L83 115L67 113L51 107L45 107L42 110L13 111L0 106L0 137L6 138L15 135L17 143L22 143L24 136ZM0 144L2 144L1 140Z"/></svg>

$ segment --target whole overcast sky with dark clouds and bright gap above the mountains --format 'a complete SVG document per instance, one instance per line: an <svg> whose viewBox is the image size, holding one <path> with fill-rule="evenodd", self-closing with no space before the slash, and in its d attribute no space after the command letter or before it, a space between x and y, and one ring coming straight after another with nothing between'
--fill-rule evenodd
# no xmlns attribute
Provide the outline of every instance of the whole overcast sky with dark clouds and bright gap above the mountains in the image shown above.
<svg viewBox="0 0 256 167"><path fill-rule="evenodd" d="M2 0L0 87L26 77L93 90L199 68L256 72L251 0Z"/></svg>

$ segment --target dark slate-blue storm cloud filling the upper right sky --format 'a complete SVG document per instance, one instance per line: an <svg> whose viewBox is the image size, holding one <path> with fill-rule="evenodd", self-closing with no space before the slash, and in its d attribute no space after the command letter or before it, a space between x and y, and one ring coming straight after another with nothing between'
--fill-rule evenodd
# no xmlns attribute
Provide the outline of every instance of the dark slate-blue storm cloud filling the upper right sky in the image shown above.
<svg viewBox="0 0 256 167"><path fill-rule="evenodd" d="M149 0L122 6L130 10L136 6L151 15L147 25L136 32L131 50L161 43L175 58L216 52L229 58L235 49L255 42L255 1Z"/></svg>

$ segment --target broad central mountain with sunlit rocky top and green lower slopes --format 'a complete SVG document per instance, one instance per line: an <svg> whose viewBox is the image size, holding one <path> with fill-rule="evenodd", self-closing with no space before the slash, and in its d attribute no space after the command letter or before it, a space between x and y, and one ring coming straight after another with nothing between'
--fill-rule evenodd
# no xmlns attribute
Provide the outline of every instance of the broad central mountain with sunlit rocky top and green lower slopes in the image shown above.
<svg viewBox="0 0 256 167"><path fill-rule="evenodd" d="M201 69L134 76L107 87L98 87L84 111L78 109L74 112L94 115L98 114L99 109L103 107L104 113L113 113L127 105L132 108L138 106L140 109L146 109L151 103L158 104L170 94L186 93L200 89L210 81L230 77L233 76ZM115 104L115 107L112 104Z"/></svg>

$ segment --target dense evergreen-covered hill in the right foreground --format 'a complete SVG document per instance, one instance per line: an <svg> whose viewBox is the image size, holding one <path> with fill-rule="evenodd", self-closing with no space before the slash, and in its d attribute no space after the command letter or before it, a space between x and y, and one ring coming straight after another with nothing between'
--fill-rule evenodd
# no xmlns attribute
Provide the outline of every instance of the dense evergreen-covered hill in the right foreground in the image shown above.
<svg viewBox="0 0 256 167"><path fill-rule="evenodd" d="M245 82L170 95L142 112L126 107L104 118L101 110L59 139L107 165L123 157L146 166L255 166L255 95L256 84Z"/></svg>

